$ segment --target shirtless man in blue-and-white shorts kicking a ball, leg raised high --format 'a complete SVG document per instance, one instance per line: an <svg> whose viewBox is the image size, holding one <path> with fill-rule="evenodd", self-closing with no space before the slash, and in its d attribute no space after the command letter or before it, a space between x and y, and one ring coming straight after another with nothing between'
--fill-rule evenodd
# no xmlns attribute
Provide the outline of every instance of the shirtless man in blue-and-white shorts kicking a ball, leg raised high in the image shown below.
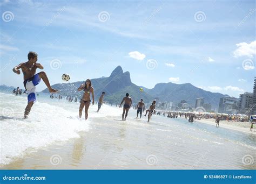
<svg viewBox="0 0 256 184"><path fill-rule="evenodd" d="M22 69L24 80L23 84L26 91L28 92L28 105L26 105L24 118L28 117L33 103L36 102L36 85L41 81L41 79L43 79L50 93L58 93L58 90L51 88L50 82L45 72L39 72L35 74L37 68L44 69L40 63L37 63L37 53L30 51L28 54L28 61L22 62L18 66L14 67L14 69L12 69L12 71L18 75L21 74L19 69Z"/></svg>

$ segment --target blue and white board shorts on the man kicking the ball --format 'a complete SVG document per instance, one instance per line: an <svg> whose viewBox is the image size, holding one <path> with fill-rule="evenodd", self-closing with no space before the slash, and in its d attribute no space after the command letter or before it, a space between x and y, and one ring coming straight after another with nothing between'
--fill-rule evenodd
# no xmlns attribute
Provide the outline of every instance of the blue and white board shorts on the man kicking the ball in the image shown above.
<svg viewBox="0 0 256 184"><path fill-rule="evenodd" d="M39 77L39 74L36 74L23 82L26 91L28 91L28 103L36 102L36 85L39 84L40 81L41 79Z"/></svg>

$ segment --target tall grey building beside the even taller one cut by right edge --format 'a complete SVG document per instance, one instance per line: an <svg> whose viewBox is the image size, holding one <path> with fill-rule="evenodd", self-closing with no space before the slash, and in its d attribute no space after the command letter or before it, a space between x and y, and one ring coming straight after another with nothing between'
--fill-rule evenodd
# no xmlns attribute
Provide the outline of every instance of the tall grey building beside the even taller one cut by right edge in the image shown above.
<svg viewBox="0 0 256 184"><path fill-rule="evenodd" d="M244 93L239 96L238 114L248 114L252 107L253 93Z"/></svg>

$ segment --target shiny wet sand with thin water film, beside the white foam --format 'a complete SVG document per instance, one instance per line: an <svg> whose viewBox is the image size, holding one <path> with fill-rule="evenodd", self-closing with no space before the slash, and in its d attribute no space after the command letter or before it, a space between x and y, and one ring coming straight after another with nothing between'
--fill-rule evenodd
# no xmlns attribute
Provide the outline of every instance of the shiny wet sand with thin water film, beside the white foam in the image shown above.
<svg viewBox="0 0 256 184"><path fill-rule="evenodd" d="M79 138L28 149L1 169L255 169L256 136L186 119L93 118ZM82 123L86 123L82 121ZM238 138L239 137L239 138ZM245 140L245 141L244 141Z"/></svg>

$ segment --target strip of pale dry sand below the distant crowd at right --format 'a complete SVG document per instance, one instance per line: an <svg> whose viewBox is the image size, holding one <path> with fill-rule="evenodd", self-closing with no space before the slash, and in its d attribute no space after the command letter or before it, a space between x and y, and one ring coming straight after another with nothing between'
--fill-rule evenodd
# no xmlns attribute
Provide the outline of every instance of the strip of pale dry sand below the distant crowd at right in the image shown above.
<svg viewBox="0 0 256 184"><path fill-rule="evenodd" d="M195 120L194 122L205 123L208 125L216 126L215 119L200 119L200 120ZM232 122L232 121L230 121L230 122ZM237 122L233 122L233 123L234 124L228 124L227 121L220 121L219 126L222 128L225 128L225 129L231 129L231 130L236 130L236 131L240 131L240 132L244 132L244 133L251 133L253 135L256 135L255 127L253 128L253 131L250 131L251 123L248 123L248 128L235 125L235 123L237 123ZM243 122L243 123L246 123L246 122Z"/></svg>

